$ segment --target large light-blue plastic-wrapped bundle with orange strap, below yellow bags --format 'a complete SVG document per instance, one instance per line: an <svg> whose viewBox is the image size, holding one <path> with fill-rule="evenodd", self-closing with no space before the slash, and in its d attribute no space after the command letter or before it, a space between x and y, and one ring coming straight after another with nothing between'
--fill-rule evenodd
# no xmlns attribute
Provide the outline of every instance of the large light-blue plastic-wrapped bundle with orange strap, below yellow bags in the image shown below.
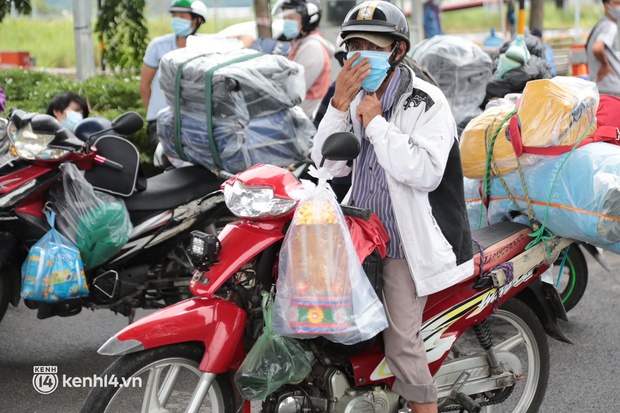
<svg viewBox="0 0 620 413"><path fill-rule="evenodd" d="M620 253L620 147L606 142L585 145L571 153L541 157L523 167L523 176L537 221L555 235ZM481 181L465 178L465 198L472 229L504 220L529 222L528 197L519 171L491 179L488 209L482 205ZM512 194L518 207L511 201Z"/></svg>

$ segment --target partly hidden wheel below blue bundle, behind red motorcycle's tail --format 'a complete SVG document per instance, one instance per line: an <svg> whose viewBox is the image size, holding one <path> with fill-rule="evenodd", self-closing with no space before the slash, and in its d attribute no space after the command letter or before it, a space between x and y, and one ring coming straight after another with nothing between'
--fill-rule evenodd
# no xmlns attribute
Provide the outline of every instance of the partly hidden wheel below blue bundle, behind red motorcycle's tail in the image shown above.
<svg viewBox="0 0 620 413"><path fill-rule="evenodd" d="M573 309L583 297L588 285L588 263L579 245L568 248L568 256L560 274L560 265L566 249L560 253L553 266L553 282L560 293L566 311ZM558 283L559 279L559 283Z"/></svg>

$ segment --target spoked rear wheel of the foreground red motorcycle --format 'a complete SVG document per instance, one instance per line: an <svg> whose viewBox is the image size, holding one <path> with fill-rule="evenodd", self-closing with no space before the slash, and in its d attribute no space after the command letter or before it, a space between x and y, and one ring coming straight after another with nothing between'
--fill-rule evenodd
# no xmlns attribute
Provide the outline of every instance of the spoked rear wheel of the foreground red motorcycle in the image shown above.
<svg viewBox="0 0 620 413"><path fill-rule="evenodd" d="M549 344L545 330L530 307L518 299L502 305L488 318L496 351L509 351L519 359L521 371L514 386L493 392L471 395L482 405L482 412L538 412L545 397L549 379ZM483 351L476 334L467 330L457 340L454 349L459 356L471 356ZM510 366L507 366L510 368ZM454 409L454 405L440 411Z"/></svg>

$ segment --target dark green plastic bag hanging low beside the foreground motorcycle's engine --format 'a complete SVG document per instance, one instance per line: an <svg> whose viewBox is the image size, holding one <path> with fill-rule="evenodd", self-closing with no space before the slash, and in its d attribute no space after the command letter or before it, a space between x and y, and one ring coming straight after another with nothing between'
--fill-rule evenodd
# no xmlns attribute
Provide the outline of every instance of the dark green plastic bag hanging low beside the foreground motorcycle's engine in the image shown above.
<svg viewBox="0 0 620 413"><path fill-rule="evenodd" d="M273 334L269 297L269 293L263 293L263 333L235 373L235 384L247 400L265 400L282 385L302 380L310 373L314 360L312 352L299 341Z"/></svg>

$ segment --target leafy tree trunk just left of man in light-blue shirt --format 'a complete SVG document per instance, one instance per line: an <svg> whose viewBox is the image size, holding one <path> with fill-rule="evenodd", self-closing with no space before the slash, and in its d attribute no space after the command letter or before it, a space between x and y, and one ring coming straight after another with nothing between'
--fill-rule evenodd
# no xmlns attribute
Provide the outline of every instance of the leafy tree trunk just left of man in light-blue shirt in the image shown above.
<svg viewBox="0 0 620 413"><path fill-rule="evenodd" d="M110 68L142 66L148 29L144 0L100 0L95 31L101 45L101 61Z"/></svg>

